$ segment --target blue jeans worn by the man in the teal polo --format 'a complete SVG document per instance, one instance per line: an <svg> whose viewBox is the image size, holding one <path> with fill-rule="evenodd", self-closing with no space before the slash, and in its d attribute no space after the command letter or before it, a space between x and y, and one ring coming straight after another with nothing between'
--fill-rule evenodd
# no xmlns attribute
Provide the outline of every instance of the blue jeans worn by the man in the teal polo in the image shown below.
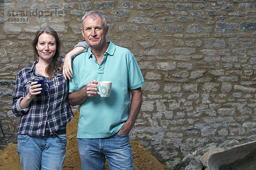
<svg viewBox="0 0 256 170"><path fill-rule="evenodd" d="M78 146L82 170L104 170L106 159L110 170L133 170L128 136L115 134L100 139L79 138Z"/></svg>

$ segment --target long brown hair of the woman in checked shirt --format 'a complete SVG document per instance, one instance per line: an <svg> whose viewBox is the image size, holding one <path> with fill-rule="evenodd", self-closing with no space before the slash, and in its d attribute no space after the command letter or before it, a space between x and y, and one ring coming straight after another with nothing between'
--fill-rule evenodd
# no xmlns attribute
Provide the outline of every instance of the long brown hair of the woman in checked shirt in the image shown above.
<svg viewBox="0 0 256 170"><path fill-rule="evenodd" d="M35 34L35 38L32 41L32 48L34 51L34 60L38 60L38 51L36 49L36 45L38 43L38 37L43 34L50 34L55 38L55 42L56 42L56 51L55 51L55 55L53 56L52 62L45 68L45 73L49 76L49 79L52 79L54 77L54 72L55 69L60 69L62 70L62 65L60 62L60 52L61 52L61 41L58 37L57 32L52 29L51 27L44 27L41 28L39 31L37 31L37 33Z"/></svg>

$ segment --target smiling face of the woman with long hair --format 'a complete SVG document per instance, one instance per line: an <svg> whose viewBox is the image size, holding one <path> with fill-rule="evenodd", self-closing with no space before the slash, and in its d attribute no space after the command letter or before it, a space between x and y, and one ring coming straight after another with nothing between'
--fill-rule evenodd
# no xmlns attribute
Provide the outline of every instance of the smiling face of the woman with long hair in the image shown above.
<svg viewBox="0 0 256 170"><path fill-rule="evenodd" d="M52 58L56 52L55 38L47 33L41 34L38 37L36 49L38 50L39 59L43 59L48 62L52 61Z"/></svg>

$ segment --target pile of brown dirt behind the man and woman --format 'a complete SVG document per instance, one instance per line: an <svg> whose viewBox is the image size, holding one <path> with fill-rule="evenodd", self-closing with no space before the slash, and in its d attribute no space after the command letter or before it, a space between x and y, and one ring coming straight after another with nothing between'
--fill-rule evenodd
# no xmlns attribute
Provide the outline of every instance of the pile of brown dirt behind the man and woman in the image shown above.
<svg viewBox="0 0 256 170"><path fill-rule="evenodd" d="M74 111L75 117L67 125L67 149L63 170L81 170L76 130L79 112ZM134 159L134 170L169 170L161 164L137 141L130 141ZM4 150L0 150L0 170L21 170L20 157L17 154L17 144L10 143ZM109 170L108 164L105 170Z"/></svg>

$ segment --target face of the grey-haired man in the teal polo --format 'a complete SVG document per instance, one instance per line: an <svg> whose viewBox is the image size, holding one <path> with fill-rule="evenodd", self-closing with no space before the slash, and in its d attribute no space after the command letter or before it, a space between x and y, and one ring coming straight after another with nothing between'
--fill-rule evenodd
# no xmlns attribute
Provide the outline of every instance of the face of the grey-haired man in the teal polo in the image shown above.
<svg viewBox="0 0 256 170"><path fill-rule="evenodd" d="M103 20L99 15L93 14L87 16L84 19L83 27L84 29L81 28L81 33L90 47L99 48L105 45L108 28L104 28Z"/></svg>

